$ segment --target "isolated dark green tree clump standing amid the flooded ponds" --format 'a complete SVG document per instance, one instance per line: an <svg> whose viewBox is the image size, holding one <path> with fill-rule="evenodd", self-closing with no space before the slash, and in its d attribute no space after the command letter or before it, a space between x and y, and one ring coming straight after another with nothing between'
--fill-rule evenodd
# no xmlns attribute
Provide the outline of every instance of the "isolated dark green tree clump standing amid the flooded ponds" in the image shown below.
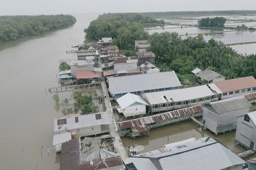
<svg viewBox="0 0 256 170"><path fill-rule="evenodd" d="M224 28L226 18L215 17L215 18L201 18L198 21L199 27L210 27L210 28Z"/></svg>

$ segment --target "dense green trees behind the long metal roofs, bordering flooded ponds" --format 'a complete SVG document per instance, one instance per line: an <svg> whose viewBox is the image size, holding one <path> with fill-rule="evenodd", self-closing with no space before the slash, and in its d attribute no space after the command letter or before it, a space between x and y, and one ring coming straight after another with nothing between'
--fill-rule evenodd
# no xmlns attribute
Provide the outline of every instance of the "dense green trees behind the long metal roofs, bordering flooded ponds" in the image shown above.
<svg viewBox="0 0 256 170"><path fill-rule="evenodd" d="M154 33L150 43L161 71L174 69L185 79L189 79L186 75L195 67L213 69L228 79L256 77L256 55L239 55L222 42L213 39L206 42L202 35L182 40L177 33Z"/></svg>

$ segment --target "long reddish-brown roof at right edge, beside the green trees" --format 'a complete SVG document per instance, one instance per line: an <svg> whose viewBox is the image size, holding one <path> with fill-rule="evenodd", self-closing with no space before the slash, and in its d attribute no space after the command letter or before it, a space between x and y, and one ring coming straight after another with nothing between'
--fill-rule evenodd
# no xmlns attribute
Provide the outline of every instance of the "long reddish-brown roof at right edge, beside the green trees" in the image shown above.
<svg viewBox="0 0 256 170"><path fill-rule="evenodd" d="M238 79L218 81L215 82L215 85L218 86L218 89L220 89L220 91L226 93L228 91L237 91L241 89L256 87L256 80L254 77L241 77Z"/></svg>

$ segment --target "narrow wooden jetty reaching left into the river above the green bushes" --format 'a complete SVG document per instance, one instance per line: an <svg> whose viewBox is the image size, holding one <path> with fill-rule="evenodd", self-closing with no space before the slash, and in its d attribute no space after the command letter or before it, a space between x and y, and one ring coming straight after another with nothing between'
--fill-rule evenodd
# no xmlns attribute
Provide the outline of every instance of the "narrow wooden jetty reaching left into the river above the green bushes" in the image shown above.
<svg viewBox="0 0 256 170"><path fill-rule="evenodd" d="M51 87L48 89L50 94L53 93L59 93L59 92L65 92L65 91L73 91L77 89L85 89L88 87L95 87L100 86L100 82L95 82L91 84L79 84L79 85L72 85L72 86L58 86L58 87Z"/></svg>

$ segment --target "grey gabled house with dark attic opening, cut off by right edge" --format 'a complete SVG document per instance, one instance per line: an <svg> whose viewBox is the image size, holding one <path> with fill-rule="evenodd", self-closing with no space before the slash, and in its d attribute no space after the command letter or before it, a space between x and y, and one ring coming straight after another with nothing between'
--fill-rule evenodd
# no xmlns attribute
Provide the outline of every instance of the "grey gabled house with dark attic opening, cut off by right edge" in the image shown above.
<svg viewBox="0 0 256 170"><path fill-rule="evenodd" d="M256 111L238 117L235 142L256 151Z"/></svg>

